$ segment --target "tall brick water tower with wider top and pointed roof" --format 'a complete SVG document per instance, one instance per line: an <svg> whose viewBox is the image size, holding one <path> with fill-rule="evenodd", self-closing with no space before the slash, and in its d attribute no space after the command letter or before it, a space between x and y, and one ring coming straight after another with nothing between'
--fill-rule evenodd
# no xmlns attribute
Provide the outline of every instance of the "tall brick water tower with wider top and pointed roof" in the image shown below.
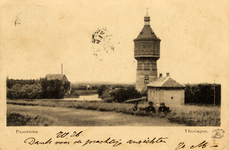
<svg viewBox="0 0 229 150"><path fill-rule="evenodd" d="M147 84L157 78L157 60L160 58L160 42L150 27L150 17L144 17L145 25L134 39L134 57L137 60L136 89L144 91Z"/></svg>

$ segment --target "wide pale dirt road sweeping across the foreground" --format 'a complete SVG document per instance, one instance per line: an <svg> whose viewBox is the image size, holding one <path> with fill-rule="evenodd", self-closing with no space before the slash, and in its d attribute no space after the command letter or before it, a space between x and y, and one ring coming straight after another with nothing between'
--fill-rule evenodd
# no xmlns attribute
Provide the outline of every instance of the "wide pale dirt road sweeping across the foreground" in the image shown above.
<svg viewBox="0 0 229 150"><path fill-rule="evenodd" d="M170 123L165 118L63 107L7 104L7 112L31 117L42 116L53 120L53 126L184 126Z"/></svg>

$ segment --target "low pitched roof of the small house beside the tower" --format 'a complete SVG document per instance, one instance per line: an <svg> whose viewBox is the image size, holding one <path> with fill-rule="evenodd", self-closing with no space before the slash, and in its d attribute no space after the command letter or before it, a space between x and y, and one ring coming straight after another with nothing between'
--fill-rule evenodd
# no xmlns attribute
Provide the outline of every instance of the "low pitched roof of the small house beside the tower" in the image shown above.
<svg viewBox="0 0 229 150"><path fill-rule="evenodd" d="M167 77L159 77L155 81L150 82L147 86L149 87L178 87L184 88L183 84L178 83L177 81L173 80L170 76Z"/></svg>

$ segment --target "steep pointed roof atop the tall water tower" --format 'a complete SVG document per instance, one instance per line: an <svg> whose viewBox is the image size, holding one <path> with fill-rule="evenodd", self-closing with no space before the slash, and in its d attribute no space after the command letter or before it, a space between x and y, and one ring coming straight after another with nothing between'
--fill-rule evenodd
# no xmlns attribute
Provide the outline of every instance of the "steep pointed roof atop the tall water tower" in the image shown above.
<svg viewBox="0 0 229 150"><path fill-rule="evenodd" d="M134 39L134 41L145 41L145 40L157 40L160 41L159 38L157 38L156 34L151 29L150 25L144 25L142 31L139 33L138 37Z"/></svg>

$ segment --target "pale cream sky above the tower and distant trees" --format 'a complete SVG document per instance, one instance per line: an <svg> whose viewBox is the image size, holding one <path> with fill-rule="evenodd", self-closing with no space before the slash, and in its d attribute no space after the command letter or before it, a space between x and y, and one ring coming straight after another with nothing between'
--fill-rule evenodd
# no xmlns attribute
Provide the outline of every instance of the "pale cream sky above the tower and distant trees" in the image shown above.
<svg viewBox="0 0 229 150"><path fill-rule="evenodd" d="M148 9L161 39L158 74L186 83L228 82L227 0L2 0L0 73L59 74L70 82L134 83L134 42ZM105 29L99 44L92 35Z"/></svg>

